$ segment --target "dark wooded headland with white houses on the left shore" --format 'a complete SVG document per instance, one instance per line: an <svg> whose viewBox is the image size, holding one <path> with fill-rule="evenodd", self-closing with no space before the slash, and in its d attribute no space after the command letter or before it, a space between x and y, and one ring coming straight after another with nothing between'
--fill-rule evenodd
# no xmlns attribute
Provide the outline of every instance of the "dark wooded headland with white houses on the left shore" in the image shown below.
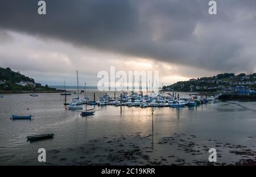
<svg viewBox="0 0 256 177"><path fill-rule="evenodd" d="M35 87L36 86L36 87ZM35 90L36 89L36 90ZM20 74L19 71L15 72L10 68L0 67L0 91L49 91L56 90L47 85L41 86L40 83L35 83L33 78Z"/></svg>

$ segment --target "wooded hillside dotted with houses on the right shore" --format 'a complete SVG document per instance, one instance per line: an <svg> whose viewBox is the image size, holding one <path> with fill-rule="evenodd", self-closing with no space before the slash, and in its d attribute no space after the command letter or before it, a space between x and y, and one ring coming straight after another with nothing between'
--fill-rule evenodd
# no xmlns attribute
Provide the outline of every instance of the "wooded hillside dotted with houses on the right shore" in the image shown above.
<svg viewBox="0 0 256 177"><path fill-rule="evenodd" d="M235 75L222 73L213 77L192 78L189 81L176 82L163 86L164 91L222 91L230 87L245 86L256 88L256 73Z"/></svg>

